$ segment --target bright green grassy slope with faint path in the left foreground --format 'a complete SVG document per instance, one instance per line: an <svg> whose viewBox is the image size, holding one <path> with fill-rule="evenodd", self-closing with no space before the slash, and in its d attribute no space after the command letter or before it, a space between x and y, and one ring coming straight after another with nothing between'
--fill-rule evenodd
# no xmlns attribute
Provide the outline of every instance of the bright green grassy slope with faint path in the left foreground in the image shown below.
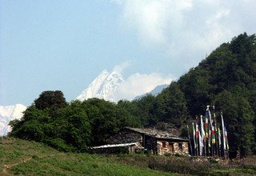
<svg viewBox="0 0 256 176"><path fill-rule="evenodd" d="M174 175L150 170L146 160L132 163L137 157L62 153L38 142L0 138L0 175Z"/></svg>

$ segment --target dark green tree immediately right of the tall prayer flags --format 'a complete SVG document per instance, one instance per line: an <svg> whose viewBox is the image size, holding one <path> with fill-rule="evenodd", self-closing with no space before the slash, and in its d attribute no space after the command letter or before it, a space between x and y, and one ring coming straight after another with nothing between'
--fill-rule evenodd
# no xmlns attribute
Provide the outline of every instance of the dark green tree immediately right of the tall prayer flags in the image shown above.
<svg viewBox="0 0 256 176"><path fill-rule="evenodd" d="M224 90L218 94L214 103L223 111L230 150L239 150L241 156L245 157L251 154L254 145L254 111L250 102L242 96L242 90L238 86L232 93Z"/></svg>

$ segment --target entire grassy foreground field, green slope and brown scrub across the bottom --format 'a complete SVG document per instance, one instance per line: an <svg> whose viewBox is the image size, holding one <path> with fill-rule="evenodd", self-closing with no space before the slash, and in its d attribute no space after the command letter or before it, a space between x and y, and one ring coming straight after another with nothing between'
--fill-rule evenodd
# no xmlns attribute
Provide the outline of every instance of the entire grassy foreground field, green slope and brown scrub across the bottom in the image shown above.
<svg viewBox="0 0 256 176"><path fill-rule="evenodd" d="M145 154L62 153L38 142L0 138L0 175L256 175L256 156L243 160Z"/></svg>

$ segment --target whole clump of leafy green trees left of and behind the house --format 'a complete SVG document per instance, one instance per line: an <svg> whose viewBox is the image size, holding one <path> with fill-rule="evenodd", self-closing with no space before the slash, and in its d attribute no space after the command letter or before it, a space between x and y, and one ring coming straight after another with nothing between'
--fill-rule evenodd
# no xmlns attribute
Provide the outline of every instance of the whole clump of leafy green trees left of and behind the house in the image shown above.
<svg viewBox="0 0 256 176"><path fill-rule="evenodd" d="M13 128L10 136L43 142L66 152L85 152L88 146L105 144L110 135L124 126L139 126L138 119L112 102L93 98L57 106L58 101L52 101L51 93L40 94L20 121L10 122Z"/></svg>

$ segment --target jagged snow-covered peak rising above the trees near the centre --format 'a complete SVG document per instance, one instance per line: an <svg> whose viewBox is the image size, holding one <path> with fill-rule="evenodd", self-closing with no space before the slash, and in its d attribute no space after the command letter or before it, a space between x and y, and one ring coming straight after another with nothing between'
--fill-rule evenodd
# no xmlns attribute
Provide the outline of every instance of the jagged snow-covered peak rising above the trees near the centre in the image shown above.
<svg viewBox="0 0 256 176"><path fill-rule="evenodd" d="M101 98L114 102L114 93L122 82L124 81L116 72L103 70L77 99L84 101L88 98Z"/></svg>

